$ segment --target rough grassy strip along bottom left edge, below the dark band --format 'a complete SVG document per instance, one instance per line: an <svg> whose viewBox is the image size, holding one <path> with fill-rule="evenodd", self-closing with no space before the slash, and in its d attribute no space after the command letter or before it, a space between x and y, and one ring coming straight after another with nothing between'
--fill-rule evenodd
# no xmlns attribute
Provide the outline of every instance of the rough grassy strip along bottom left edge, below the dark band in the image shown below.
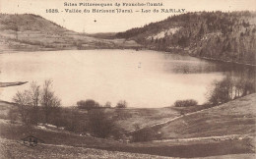
<svg viewBox="0 0 256 159"><path fill-rule="evenodd" d="M17 143L15 140L0 138L0 158L167 158L138 153L125 153L117 151L106 151L93 148L74 147L67 145L40 144L29 148Z"/></svg>

